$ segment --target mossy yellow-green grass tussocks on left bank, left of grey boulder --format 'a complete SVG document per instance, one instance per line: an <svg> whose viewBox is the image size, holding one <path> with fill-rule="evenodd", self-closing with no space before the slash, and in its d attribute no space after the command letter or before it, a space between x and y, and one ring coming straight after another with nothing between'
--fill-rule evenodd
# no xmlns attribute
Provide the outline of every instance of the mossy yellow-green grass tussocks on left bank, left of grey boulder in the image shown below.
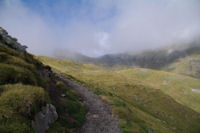
<svg viewBox="0 0 200 133"><path fill-rule="evenodd" d="M49 103L42 87L47 82L40 76L28 54L0 46L0 132L33 132L30 117Z"/></svg>

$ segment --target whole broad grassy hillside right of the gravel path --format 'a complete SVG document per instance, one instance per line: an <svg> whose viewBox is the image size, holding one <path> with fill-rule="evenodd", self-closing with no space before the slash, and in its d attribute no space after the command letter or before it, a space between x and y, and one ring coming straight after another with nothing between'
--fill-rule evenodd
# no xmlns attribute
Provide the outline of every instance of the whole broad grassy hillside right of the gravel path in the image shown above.
<svg viewBox="0 0 200 133"><path fill-rule="evenodd" d="M150 69L110 71L38 58L110 103L124 133L200 132L200 94L191 90L199 89L197 79Z"/></svg>

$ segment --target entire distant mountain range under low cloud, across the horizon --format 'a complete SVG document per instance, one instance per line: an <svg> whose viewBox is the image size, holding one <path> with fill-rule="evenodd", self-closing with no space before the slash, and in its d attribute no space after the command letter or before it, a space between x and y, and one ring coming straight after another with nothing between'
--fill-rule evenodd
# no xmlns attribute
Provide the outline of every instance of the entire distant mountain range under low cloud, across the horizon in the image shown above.
<svg viewBox="0 0 200 133"><path fill-rule="evenodd" d="M98 58L87 57L80 53L67 50L57 50L55 51L54 56L60 59L72 60L77 63L95 64L99 66L162 69L175 62L177 59L194 53L200 53L200 43L195 42L189 45L173 45L167 48L147 50L137 54L107 54Z"/></svg>

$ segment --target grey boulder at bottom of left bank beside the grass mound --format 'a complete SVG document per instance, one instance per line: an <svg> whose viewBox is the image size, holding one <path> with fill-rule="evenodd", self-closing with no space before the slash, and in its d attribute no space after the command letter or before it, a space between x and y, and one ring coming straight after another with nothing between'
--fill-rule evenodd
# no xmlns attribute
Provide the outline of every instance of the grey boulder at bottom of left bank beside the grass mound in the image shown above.
<svg viewBox="0 0 200 133"><path fill-rule="evenodd" d="M35 120L32 121L31 125L35 133L45 133L49 129L49 125L58 119L58 114L52 104L47 104L42 107L42 110L34 118Z"/></svg>

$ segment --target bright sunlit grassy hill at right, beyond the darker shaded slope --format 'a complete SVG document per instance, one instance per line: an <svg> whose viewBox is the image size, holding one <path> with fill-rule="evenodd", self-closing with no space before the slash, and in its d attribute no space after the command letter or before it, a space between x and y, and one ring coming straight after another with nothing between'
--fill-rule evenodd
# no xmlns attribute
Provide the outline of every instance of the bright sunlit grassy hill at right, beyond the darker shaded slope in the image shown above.
<svg viewBox="0 0 200 133"><path fill-rule="evenodd" d="M119 71L129 80L135 79L141 84L159 89L177 102L200 112L200 81L195 78L151 69L128 69Z"/></svg>

